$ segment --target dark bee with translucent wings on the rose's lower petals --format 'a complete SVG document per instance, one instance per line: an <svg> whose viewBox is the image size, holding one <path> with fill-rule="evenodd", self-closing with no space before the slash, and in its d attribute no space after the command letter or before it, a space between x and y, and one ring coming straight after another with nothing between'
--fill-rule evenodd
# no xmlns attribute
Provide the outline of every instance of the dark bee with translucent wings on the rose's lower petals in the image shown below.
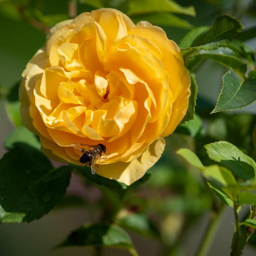
<svg viewBox="0 0 256 256"><path fill-rule="evenodd" d="M101 143L97 145L73 143L70 146L82 151L79 162L85 163L85 166L91 166L92 174L97 172L101 159L106 159L102 158L102 156L106 153L106 146Z"/></svg>

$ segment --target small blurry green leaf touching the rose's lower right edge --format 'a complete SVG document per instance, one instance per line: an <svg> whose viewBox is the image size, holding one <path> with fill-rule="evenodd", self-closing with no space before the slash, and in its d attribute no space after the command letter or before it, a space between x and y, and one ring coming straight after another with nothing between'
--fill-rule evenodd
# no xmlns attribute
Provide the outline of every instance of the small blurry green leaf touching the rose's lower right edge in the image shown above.
<svg viewBox="0 0 256 256"><path fill-rule="evenodd" d="M194 117L195 119L189 120L184 124L178 125L178 127L175 129L175 132L196 137L196 135L198 135L203 129L203 123L201 118L197 114L195 114Z"/></svg>

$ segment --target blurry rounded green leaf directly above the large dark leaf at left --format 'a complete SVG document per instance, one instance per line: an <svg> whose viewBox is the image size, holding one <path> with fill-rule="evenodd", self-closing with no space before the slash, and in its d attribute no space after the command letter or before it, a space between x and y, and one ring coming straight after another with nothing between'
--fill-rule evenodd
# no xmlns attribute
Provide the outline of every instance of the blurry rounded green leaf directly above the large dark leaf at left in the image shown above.
<svg viewBox="0 0 256 256"><path fill-rule="evenodd" d="M7 149L13 148L16 143L24 143L38 150L41 148L41 143L34 133L30 132L23 125L12 130L4 139L4 147Z"/></svg>

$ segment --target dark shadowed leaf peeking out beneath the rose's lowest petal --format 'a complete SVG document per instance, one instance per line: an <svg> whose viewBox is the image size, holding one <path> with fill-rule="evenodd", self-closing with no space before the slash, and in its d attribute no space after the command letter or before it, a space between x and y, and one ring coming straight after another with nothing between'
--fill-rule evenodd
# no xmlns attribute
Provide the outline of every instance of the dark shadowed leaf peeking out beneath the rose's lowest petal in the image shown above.
<svg viewBox="0 0 256 256"><path fill-rule="evenodd" d="M144 182L146 182L148 180L148 178L150 177L150 174L146 173L142 178L140 178L139 180L137 180L130 186L127 186L123 182L118 182L116 180L102 177L102 176L98 175L97 173L92 175L91 171L89 170L90 168L88 168L88 167L76 166L76 165L71 165L71 166L73 166L75 170L78 170L90 182L97 184L99 186L108 187L110 189L116 189L118 191L125 191L128 188L136 188L140 184L143 184Z"/></svg>

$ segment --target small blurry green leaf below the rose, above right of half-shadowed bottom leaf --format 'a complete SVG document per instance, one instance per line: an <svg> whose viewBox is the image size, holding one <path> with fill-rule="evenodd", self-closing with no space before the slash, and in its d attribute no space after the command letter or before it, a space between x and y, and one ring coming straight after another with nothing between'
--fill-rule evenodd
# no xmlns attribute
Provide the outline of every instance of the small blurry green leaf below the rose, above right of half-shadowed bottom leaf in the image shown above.
<svg viewBox="0 0 256 256"><path fill-rule="evenodd" d="M117 218L116 224L143 236L159 237L159 231L144 214L127 214Z"/></svg>

